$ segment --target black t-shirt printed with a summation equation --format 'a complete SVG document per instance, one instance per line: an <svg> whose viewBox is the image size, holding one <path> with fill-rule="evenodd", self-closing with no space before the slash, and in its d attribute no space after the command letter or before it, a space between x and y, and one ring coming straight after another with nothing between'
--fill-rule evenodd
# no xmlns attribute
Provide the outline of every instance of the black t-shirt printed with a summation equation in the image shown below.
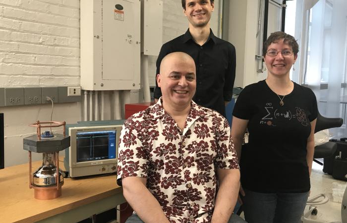
<svg viewBox="0 0 347 223"><path fill-rule="evenodd" d="M243 188L261 193L310 190L306 145L317 100L311 89L294 83L283 102L280 106L265 80L246 86L236 100L232 115L249 120L240 161Z"/></svg>

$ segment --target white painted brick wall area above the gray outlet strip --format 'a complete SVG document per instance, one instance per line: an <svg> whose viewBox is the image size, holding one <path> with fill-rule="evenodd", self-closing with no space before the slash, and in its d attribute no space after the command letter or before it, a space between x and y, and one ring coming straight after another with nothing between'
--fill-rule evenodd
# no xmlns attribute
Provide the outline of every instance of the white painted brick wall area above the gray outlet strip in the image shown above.
<svg viewBox="0 0 347 223"><path fill-rule="evenodd" d="M79 85L79 0L0 0L0 87Z"/></svg>

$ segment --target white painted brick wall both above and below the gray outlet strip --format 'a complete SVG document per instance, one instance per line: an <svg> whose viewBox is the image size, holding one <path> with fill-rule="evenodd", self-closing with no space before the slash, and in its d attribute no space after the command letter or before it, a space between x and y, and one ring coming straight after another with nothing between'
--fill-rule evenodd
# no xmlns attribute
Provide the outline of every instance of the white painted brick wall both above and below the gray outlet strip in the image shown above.
<svg viewBox="0 0 347 223"><path fill-rule="evenodd" d="M79 0L0 0L0 87L80 85ZM81 103L54 106L53 119L76 123ZM5 167L27 163L28 123L47 121L50 105L0 107ZM25 113L25 115L23 115ZM33 153L33 160L41 154Z"/></svg>

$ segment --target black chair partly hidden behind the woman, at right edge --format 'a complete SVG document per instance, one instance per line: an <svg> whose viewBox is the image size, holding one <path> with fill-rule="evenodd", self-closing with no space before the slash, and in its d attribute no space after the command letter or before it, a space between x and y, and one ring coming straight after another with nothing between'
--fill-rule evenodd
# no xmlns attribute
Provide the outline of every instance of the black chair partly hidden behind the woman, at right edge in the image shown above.
<svg viewBox="0 0 347 223"><path fill-rule="evenodd" d="M340 127L344 120L342 118L328 118L322 116L318 111L316 127L314 133L319 132L324 129ZM321 159L325 157L331 157L337 150L337 144L335 142L327 142L319 146L314 147L313 161L319 165L323 165L320 161L316 159Z"/></svg>

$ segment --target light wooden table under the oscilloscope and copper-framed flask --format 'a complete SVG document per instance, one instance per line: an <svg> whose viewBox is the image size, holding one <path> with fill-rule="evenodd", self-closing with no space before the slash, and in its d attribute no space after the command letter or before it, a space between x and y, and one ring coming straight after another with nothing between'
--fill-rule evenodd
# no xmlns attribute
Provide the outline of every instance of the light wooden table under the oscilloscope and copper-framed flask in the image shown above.
<svg viewBox="0 0 347 223"><path fill-rule="evenodd" d="M60 159L62 160L62 159ZM32 171L42 161L33 162ZM63 163L59 163L63 166ZM116 175L64 178L62 195L52 200L37 200L29 189L29 165L0 169L0 222L78 222L124 203Z"/></svg>

